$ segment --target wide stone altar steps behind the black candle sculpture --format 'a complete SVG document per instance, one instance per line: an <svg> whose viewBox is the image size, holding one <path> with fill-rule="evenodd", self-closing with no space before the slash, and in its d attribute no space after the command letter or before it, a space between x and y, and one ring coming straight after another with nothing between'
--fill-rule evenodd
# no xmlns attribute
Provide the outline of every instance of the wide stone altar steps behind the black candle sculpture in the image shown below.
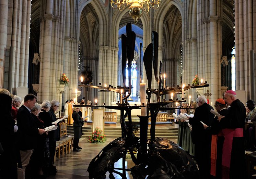
<svg viewBox="0 0 256 179"><path fill-rule="evenodd" d="M121 137L121 128L105 127L105 135L107 138L118 138ZM67 126L67 134L73 135L73 126ZM92 135L92 127L83 127L83 137ZM138 131L137 137L140 137L140 130ZM177 128L160 128L156 127L155 136L166 139L177 139L178 129ZM148 129L148 138L150 138L150 128Z"/></svg>

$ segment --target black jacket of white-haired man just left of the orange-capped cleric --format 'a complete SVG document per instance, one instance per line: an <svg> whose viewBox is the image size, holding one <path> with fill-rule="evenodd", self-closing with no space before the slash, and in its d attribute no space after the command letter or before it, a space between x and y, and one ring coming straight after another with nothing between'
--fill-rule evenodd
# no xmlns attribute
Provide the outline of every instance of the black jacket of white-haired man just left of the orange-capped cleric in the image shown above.
<svg viewBox="0 0 256 179"><path fill-rule="evenodd" d="M207 126L212 125L214 114L210 112L211 109L213 110L212 106L203 103L196 108L194 117L189 118L189 124L192 125L191 137L193 143L205 143L211 140L211 135L203 128L203 124L201 123L203 122Z"/></svg>

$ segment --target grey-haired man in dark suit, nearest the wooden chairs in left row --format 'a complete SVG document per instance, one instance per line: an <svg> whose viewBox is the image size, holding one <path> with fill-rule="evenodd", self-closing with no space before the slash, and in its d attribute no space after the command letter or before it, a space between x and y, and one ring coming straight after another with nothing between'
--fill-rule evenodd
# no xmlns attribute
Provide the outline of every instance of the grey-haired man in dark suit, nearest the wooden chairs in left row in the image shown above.
<svg viewBox="0 0 256 179"><path fill-rule="evenodd" d="M51 101L51 107L50 110L48 111L49 116L50 116L50 123L54 123L57 119L55 112L58 110L59 108L59 101L57 100L52 100ZM59 124L54 123L53 125L57 126ZM53 164L54 162L54 156L56 153L56 141L60 140L60 128L58 126L58 128L56 130L52 130L49 131L49 148L50 148L50 163ZM53 170L56 170L56 167L53 166Z"/></svg>

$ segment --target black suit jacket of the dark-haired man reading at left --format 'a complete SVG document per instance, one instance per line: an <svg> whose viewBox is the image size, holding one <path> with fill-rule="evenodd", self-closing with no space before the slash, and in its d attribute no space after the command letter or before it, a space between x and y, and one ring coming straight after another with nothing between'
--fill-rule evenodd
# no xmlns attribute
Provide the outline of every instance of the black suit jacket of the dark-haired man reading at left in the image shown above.
<svg viewBox="0 0 256 179"><path fill-rule="evenodd" d="M19 127L19 149L35 149L38 135L38 125L32 117L31 112L22 105L17 113L17 126Z"/></svg>

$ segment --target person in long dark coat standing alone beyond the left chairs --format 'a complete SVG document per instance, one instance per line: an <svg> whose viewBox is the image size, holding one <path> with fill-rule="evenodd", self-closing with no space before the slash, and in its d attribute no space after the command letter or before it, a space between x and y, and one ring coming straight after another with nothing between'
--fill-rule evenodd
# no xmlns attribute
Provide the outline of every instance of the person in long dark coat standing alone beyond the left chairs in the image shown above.
<svg viewBox="0 0 256 179"><path fill-rule="evenodd" d="M82 122L83 119L81 116L78 114L77 111L73 111L72 113L72 118L74 119L74 124L73 124L73 129L74 129L74 142L73 142L73 152L79 152L81 147L79 147L79 139L82 138Z"/></svg>

